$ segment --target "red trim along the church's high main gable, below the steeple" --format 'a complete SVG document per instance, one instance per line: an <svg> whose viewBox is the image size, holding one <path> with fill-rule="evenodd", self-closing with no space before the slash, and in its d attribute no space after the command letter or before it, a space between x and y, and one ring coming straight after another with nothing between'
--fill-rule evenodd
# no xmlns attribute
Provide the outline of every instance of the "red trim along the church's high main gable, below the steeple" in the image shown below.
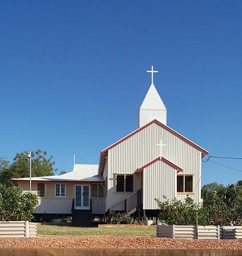
<svg viewBox="0 0 242 256"><path fill-rule="evenodd" d="M124 140L128 140L128 138L132 137L136 133L139 133L141 130L144 130L146 127L152 125L153 123L157 124L158 126L161 126L165 130L169 131L169 133L172 133L173 135L175 135L176 137L179 137L179 139L185 141L190 146L195 147L197 150L202 152L202 157L206 156L206 154L209 154L209 152L204 150L202 147L199 147L198 145L194 144L191 140L186 139L186 137L183 137L181 134L177 133L175 130L172 130L171 128L169 128L169 126L165 126L165 124L158 122L156 119L154 119L150 123L147 123L145 126L138 128L134 132L123 137L121 140L118 140L116 143L112 144L110 147L105 148L104 150L101 151L101 154L104 154L108 150L111 150L111 148L116 147L118 144L121 144Z"/></svg>

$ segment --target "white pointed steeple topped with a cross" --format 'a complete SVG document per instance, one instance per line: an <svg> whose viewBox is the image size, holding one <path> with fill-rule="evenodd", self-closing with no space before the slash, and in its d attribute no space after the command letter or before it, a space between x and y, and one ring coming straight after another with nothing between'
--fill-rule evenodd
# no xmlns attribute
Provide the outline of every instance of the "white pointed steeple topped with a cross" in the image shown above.
<svg viewBox="0 0 242 256"><path fill-rule="evenodd" d="M152 70L147 72L152 73L152 84L138 111L138 127L144 126L146 123L149 123L154 119L166 125L165 104L158 95L153 81L153 75L154 73L158 73L158 71L154 71L152 66Z"/></svg>

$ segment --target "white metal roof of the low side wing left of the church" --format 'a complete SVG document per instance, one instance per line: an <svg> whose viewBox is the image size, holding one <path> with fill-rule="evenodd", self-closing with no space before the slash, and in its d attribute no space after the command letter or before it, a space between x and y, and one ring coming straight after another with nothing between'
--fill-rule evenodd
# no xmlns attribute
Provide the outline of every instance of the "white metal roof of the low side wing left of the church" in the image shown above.
<svg viewBox="0 0 242 256"><path fill-rule="evenodd" d="M63 175L33 177L34 182L102 182L103 177L97 175L98 164L74 164L73 171ZM13 182L29 181L29 178L12 178Z"/></svg>

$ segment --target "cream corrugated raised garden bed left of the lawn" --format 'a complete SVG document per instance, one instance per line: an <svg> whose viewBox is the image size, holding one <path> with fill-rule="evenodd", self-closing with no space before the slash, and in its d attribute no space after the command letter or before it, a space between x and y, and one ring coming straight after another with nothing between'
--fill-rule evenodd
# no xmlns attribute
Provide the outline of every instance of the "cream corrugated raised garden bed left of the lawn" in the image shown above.
<svg viewBox="0 0 242 256"><path fill-rule="evenodd" d="M0 223L0 237L36 237L37 223L9 221Z"/></svg>

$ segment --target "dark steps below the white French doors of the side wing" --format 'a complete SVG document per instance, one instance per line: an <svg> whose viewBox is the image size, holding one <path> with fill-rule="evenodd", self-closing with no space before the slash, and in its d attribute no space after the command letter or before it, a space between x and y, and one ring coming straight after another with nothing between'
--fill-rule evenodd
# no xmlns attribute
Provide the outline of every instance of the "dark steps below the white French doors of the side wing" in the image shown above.
<svg viewBox="0 0 242 256"><path fill-rule="evenodd" d="M76 227L90 227L91 210L90 209L73 209L72 224Z"/></svg>

